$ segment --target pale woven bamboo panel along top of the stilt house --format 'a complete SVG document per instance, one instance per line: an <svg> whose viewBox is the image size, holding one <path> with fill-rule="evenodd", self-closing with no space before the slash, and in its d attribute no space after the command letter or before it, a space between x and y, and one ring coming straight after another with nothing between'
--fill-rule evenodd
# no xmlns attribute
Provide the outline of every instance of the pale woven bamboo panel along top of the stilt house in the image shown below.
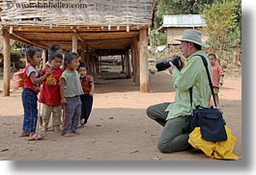
<svg viewBox="0 0 256 175"><path fill-rule="evenodd" d="M0 1L6 25L151 25L155 0Z"/></svg>

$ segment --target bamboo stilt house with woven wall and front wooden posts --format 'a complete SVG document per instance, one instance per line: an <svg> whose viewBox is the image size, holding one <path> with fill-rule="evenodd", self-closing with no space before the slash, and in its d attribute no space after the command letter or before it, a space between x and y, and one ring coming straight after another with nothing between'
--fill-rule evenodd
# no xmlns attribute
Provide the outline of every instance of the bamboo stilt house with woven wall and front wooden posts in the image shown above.
<svg viewBox="0 0 256 175"><path fill-rule="evenodd" d="M102 55L128 57L130 50L133 80L149 91L147 46L156 0L15 0L0 1L0 8L4 95L10 88L10 39L43 49L56 43L80 51L86 62Z"/></svg>

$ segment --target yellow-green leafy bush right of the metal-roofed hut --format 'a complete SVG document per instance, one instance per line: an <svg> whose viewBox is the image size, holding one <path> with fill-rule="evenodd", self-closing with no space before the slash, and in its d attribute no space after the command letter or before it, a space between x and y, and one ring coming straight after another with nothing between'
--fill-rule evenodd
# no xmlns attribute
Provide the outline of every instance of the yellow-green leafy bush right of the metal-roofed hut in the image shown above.
<svg viewBox="0 0 256 175"><path fill-rule="evenodd" d="M215 1L205 5L203 16L213 52L218 53L241 44L241 0Z"/></svg>

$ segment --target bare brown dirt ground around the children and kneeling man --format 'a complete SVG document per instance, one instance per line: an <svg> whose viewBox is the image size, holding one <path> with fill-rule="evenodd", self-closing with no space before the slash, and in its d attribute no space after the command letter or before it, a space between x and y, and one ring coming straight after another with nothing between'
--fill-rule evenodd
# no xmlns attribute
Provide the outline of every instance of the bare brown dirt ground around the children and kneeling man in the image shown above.
<svg viewBox="0 0 256 175"><path fill-rule="evenodd" d="M175 93L167 72L150 75L150 88L150 93L142 93L130 79L101 81L96 85L88 124L78 130L79 135L61 137L48 132L37 141L18 137L23 114L21 89L14 90L10 97L0 93L0 160L214 161L196 151L162 154L157 150L162 127L146 116L146 109L173 101ZM241 77L225 77L219 97L227 124L237 137L234 153L242 159Z"/></svg>

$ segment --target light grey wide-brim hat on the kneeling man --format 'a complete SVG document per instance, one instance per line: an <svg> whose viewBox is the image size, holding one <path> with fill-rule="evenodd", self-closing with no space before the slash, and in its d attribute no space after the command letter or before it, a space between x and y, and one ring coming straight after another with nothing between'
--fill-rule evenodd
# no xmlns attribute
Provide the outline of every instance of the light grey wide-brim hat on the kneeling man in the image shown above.
<svg viewBox="0 0 256 175"><path fill-rule="evenodd" d="M201 45L203 47L209 48L210 45L202 42L201 32L193 29L186 29L183 34L183 38L175 39L180 41L189 41Z"/></svg>

